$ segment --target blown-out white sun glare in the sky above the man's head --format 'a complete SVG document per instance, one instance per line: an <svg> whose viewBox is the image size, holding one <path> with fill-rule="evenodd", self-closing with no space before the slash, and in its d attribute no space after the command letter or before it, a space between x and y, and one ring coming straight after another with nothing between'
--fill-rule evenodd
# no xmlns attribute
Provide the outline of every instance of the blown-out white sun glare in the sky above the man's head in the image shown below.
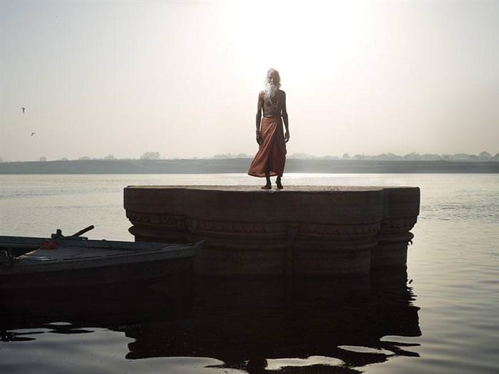
<svg viewBox="0 0 499 374"><path fill-rule="evenodd" d="M316 69L323 79L344 76L363 60L366 18L366 4L358 1L232 4L227 14L233 52L248 78L262 80L273 66L307 82Z"/></svg>

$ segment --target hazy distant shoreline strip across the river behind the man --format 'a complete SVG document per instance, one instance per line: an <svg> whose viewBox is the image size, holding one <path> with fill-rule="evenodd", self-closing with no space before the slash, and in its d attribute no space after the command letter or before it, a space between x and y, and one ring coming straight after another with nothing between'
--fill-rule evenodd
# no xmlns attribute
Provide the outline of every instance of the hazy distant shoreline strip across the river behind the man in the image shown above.
<svg viewBox="0 0 499 374"><path fill-rule="evenodd" d="M0 174L219 174L246 173L251 159L58 160L0 162ZM284 172L499 173L499 162L288 159Z"/></svg>

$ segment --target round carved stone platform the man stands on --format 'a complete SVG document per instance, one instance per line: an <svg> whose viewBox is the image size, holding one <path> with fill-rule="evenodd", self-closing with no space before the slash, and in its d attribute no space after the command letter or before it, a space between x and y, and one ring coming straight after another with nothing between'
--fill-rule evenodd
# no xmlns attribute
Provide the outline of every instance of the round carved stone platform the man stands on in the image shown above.
<svg viewBox="0 0 499 374"><path fill-rule="evenodd" d="M131 186L137 240L205 239L198 274L367 274L405 266L418 187Z"/></svg>

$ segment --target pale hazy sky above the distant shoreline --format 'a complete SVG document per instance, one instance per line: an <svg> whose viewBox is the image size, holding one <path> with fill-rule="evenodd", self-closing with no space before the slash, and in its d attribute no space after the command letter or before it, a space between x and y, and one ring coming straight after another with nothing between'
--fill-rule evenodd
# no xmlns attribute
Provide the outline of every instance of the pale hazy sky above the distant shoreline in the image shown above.
<svg viewBox="0 0 499 374"><path fill-rule="evenodd" d="M1 1L0 157L254 154L269 67L289 154L499 152L499 1Z"/></svg>

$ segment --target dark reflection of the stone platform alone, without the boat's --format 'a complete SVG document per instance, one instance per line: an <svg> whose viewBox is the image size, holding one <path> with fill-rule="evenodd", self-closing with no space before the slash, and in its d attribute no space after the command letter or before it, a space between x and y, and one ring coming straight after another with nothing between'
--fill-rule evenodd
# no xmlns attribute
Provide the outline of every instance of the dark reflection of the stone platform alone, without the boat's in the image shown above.
<svg viewBox="0 0 499 374"><path fill-rule="evenodd" d="M267 373L271 358L319 356L338 362L329 370L307 370L304 360L291 373L360 373L356 368L393 355L418 357L418 307L406 271L386 273L348 281L198 279L185 318L125 329L134 339L126 357L210 357L223 361L220 368L248 373Z"/></svg>

